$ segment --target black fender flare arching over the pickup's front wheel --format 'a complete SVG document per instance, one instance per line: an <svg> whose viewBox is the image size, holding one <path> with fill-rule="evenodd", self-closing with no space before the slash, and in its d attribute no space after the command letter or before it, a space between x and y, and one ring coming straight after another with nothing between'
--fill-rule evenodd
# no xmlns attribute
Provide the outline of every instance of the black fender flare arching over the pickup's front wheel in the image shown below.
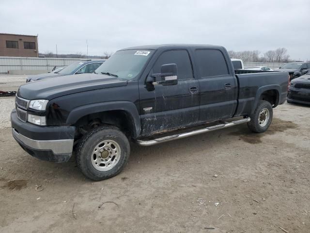
<svg viewBox="0 0 310 233"><path fill-rule="evenodd" d="M101 113L112 110L123 110L131 116L131 120L134 123L135 132L134 137L140 135L141 132L141 121L136 105L130 101L111 101L111 102L100 102L82 105L74 108L66 120L66 124L75 124L78 119L83 116L87 116L93 113Z"/></svg>

